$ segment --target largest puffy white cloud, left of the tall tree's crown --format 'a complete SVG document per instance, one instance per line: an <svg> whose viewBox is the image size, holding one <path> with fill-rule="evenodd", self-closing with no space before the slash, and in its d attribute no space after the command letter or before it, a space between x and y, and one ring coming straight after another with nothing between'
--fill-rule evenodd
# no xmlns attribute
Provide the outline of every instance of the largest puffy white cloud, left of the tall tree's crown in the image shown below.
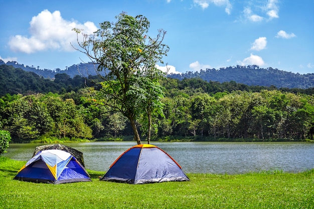
<svg viewBox="0 0 314 209"><path fill-rule="evenodd" d="M85 34L97 30L94 23L86 22L83 25L75 21L62 19L59 11L50 13L42 11L30 22L31 37L16 35L11 37L9 45L16 52L34 53L48 49L60 51L73 51L70 43L76 42L76 33L73 28L83 29Z"/></svg>

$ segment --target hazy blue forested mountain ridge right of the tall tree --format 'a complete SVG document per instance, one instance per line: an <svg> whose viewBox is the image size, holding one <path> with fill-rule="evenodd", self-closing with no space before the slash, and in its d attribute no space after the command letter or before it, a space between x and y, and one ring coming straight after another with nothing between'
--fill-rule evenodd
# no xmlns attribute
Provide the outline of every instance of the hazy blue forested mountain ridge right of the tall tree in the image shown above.
<svg viewBox="0 0 314 209"><path fill-rule="evenodd" d="M187 72L183 74L171 74L171 78L179 80L188 78L201 78L205 81L230 82L253 86L276 86L277 88L313 88L314 73L298 74L278 69L259 68L257 65L233 66L227 68L206 69L200 72Z"/></svg>

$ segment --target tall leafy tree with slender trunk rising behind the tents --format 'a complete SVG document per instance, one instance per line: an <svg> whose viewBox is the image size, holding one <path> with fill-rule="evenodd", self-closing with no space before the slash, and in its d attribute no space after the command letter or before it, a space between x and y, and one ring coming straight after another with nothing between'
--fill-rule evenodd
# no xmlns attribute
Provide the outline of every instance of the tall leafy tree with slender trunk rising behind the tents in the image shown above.
<svg viewBox="0 0 314 209"><path fill-rule="evenodd" d="M102 88L93 91L97 102L121 112L131 124L134 140L140 144L135 121L144 112L142 103L147 101L144 93L148 90L139 85L141 79L138 78L158 80L161 76L155 65L163 63L162 58L169 51L169 47L162 44L166 31L159 30L156 38L150 38L146 35L147 18L122 13L116 19L116 23L99 24L100 29L92 35L83 34L83 41L77 39L79 48L75 49L98 66L98 75L104 80ZM74 31L77 35L82 32Z"/></svg>

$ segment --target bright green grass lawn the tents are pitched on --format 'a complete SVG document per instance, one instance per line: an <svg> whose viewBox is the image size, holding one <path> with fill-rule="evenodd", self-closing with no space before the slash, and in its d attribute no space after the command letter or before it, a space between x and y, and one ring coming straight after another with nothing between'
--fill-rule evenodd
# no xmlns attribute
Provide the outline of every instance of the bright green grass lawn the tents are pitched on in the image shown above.
<svg viewBox="0 0 314 209"><path fill-rule="evenodd" d="M314 208L314 169L301 173L188 173L191 181L131 185L13 180L25 164L0 157L0 208Z"/></svg>

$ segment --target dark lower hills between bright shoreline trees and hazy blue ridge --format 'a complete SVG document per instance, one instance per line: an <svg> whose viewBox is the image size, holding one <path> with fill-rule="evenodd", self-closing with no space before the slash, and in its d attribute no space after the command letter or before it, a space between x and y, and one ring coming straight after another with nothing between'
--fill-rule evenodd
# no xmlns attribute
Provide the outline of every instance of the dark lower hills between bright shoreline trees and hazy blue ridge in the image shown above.
<svg viewBox="0 0 314 209"><path fill-rule="evenodd" d="M71 91L78 91L85 86L94 86L100 81L98 76L84 78L82 76L74 76L71 78L66 73L55 74L54 79L45 79L34 72L27 72L20 68L14 68L9 65L0 65L0 96L6 94L34 94L34 93L58 93L64 94ZM252 91L259 92L261 90L280 90L283 92L302 93L312 95L314 88L299 89L299 88L276 88L275 86L248 86L245 84L230 82L205 81L201 78L191 79L172 79L167 82L162 82L162 85L167 89L167 96L175 96L178 91L188 91L188 89L197 89L203 93L213 95L218 92Z"/></svg>

